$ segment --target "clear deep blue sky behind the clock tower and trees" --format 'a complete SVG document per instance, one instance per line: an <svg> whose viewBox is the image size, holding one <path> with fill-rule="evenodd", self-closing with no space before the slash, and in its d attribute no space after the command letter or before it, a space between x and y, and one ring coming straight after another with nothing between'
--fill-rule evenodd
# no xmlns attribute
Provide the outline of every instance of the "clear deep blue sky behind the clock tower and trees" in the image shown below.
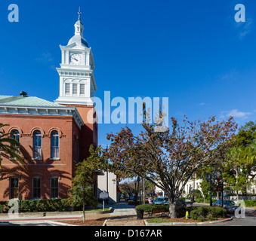
<svg viewBox="0 0 256 241"><path fill-rule="evenodd" d="M8 22L11 3L19 23ZM234 20L236 4L245 5L245 23ZM169 117L179 120L256 120L255 1L1 0L0 95L57 99L59 46L74 34L79 6L96 96L168 97ZM100 124L99 144L122 126Z"/></svg>

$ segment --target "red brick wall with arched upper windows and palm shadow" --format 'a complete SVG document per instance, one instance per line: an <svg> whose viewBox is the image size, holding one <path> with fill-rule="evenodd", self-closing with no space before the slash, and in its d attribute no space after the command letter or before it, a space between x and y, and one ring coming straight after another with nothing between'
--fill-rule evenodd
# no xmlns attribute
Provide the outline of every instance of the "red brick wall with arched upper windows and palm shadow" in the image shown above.
<svg viewBox="0 0 256 241"><path fill-rule="evenodd" d="M41 198L50 198L50 179L59 179L59 197L66 198L76 163L73 161L72 142L75 136L81 136L80 129L70 116L38 116L23 114L1 114L0 123L9 124L9 130L20 132L20 152L24 166L16 160L3 157L0 171L0 200L8 200L11 177L19 178L19 194L23 199L32 198L32 178L41 178ZM33 160L33 131L42 132L42 160ZM51 131L60 135L60 160L51 160Z"/></svg>

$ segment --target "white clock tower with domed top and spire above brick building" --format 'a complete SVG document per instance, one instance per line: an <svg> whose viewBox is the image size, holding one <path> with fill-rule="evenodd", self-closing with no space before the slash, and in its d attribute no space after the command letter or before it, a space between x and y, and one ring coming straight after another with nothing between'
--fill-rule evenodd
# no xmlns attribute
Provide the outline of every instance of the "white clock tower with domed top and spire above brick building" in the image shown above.
<svg viewBox="0 0 256 241"><path fill-rule="evenodd" d="M62 105L94 105L97 90L94 79L94 56L83 37L85 27L79 20L75 24L75 35L66 46L61 46L62 61L57 72L60 75L60 96L55 102Z"/></svg>

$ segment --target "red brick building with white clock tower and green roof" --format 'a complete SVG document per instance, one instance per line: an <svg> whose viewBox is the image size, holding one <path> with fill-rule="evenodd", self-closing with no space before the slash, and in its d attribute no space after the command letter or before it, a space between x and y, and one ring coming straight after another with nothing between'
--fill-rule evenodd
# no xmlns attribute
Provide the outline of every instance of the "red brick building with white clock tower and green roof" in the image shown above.
<svg viewBox="0 0 256 241"><path fill-rule="evenodd" d="M75 24L75 36L62 50L60 96L55 102L38 97L0 96L0 123L5 133L20 142L24 165L2 153L0 200L66 198L76 163L97 145L94 122L94 59L83 38L84 27ZM97 194L97 175L94 192Z"/></svg>

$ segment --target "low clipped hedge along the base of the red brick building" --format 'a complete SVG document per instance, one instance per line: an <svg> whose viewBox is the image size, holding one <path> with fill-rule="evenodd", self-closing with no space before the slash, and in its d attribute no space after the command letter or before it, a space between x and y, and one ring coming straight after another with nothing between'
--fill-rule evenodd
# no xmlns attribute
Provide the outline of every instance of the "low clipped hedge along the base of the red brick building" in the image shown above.
<svg viewBox="0 0 256 241"><path fill-rule="evenodd" d="M18 201L20 206L20 201ZM7 213L11 209L8 201L0 201L0 213ZM22 200L21 212L66 212L70 209L80 209L69 205L67 199L47 199L47 200Z"/></svg>

